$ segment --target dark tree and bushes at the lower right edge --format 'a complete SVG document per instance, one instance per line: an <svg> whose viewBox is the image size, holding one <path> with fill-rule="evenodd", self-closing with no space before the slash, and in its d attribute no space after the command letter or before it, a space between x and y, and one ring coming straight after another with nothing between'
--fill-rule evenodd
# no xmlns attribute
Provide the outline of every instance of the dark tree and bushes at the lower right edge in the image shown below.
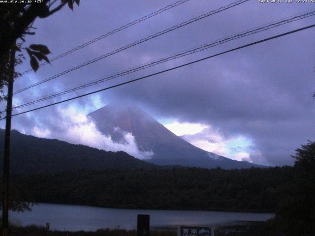
<svg viewBox="0 0 315 236"><path fill-rule="evenodd" d="M315 142L296 149L295 185L285 198L276 217L267 222L266 236L315 235Z"/></svg>

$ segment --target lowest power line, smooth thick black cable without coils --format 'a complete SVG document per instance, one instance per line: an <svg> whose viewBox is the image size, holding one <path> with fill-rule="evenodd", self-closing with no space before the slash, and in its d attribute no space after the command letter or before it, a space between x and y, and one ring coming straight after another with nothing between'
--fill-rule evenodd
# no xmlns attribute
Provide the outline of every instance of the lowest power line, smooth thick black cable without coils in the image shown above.
<svg viewBox="0 0 315 236"><path fill-rule="evenodd" d="M246 48L246 47L258 44L258 43L269 41L271 39L279 38L279 37L282 37L282 36L285 36L285 35L288 35L288 34L292 34L292 33L295 33L295 32L298 32L298 31L302 31L302 30L305 30L305 29L310 29L310 28L313 28L313 27L315 27L315 24L307 26L307 27L295 29L295 30L292 30L292 31L288 31L288 32L285 32L285 33L282 33L282 34L278 34L278 35L275 35L275 36L272 36L272 37L269 37L269 38L265 38L265 39L262 39L262 40L258 40L258 41L255 41L255 42L252 42L252 43L249 43L249 44L237 47L237 48L233 48L233 49L230 49L230 50L227 50L227 51L224 51L224 52L221 52L221 53L218 53L218 54L206 57L206 58L194 60L194 61L182 64L182 65L179 65L179 66L172 67L170 69L159 71L159 72L156 72L156 73L153 73L153 74L150 74L150 75L146 75L146 76L143 76L143 77L140 77L140 78L137 78L137 79L129 80L129 81L126 81L124 83L120 83L120 84L117 84L117 85L114 85L114 86L110 86L110 87L107 87L107 88L104 88L104 89L99 89L99 90L96 90L96 91L93 91L93 92L89 92L89 93L86 93L86 94L83 94L83 95L79 95L79 96L75 96L75 97L72 97L72 98L69 98L69 99L65 99L65 100L62 100L62 101L59 101L59 102L51 103L51 104L48 104L48 105L45 105L45 106L42 106L42 107L37 107L37 108L34 108L32 110L28 110L28 111L25 111L25 112L20 112L20 113L12 115L11 117L18 116L18 115L25 114L25 113L29 113L29 112L32 112L32 111L36 111L36 110L43 109L43 108L46 108L46 107L54 106L54 105L57 105L57 104L60 104L60 103L63 103L63 102L71 101L71 100L74 100L74 99L77 99L77 98L80 98L80 97L84 97L84 96L88 96L88 95L91 95L91 94L94 94L94 93L97 93L97 92L101 92L101 91L104 91L104 90L113 89L113 88L116 88L116 87L119 87L119 86L122 86L122 85L126 85L126 84L129 84L129 83L135 82L135 81L139 81L139 80L142 80L142 79L145 79L145 78L149 78L149 77L152 77L152 76L155 76L155 75L158 75L158 74L162 74L162 73L165 73L167 71L175 70L175 69L178 69L178 68L190 65L190 64L194 64L194 63L202 61L202 60L214 58L214 57L220 56L222 54L233 52L233 51L236 51L236 50L239 50L239 49L242 49L242 48ZM2 120L2 119L5 119L5 117L1 118L0 120Z"/></svg>

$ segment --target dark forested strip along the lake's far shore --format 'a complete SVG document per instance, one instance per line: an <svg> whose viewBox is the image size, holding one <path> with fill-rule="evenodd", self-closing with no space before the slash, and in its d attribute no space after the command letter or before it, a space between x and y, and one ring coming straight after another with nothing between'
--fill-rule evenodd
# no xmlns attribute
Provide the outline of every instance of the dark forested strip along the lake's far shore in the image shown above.
<svg viewBox="0 0 315 236"><path fill-rule="evenodd" d="M96 207L274 212L292 197L292 167L80 170L12 177L37 202ZM27 200L27 199L26 199Z"/></svg>

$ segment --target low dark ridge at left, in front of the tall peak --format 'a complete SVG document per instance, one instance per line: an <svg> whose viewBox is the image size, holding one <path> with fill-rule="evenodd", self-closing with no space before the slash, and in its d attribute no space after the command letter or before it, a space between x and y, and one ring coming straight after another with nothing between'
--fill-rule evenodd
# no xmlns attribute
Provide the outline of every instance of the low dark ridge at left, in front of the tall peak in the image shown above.
<svg viewBox="0 0 315 236"><path fill-rule="evenodd" d="M0 129L0 172L3 169L4 130ZM57 139L43 139L11 131L11 173L51 173L78 169L152 169L124 151L112 152L74 145Z"/></svg>

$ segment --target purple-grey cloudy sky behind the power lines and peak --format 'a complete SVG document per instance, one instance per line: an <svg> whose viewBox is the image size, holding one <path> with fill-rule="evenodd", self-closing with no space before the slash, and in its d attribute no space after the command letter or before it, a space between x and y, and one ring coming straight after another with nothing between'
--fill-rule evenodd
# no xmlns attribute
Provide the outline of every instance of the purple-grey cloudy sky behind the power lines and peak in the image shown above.
<svg viewBox="0 0 315 236"><path fill-rule="evenodd" d="M52 58L173 2L82 0L80 7L75 6L73 12L64 7L48 19L36 20L36 34L27 37L25 45L46 44L52 51ZM30 72L18 78L14 90L231 2L189 0L56 60L52 65L45 65L36 73ZM250 0L16 94L14 104L314 8L314 3L258 3L258 0ZM13 113L105 88L314 23L315 17L295 21L62 97L16 109ZM315 140L315 99L312 97L315 91L314 38L315 28L300 31L119 88L16 116L12 120L12 128L26 134L93 146L97 135L90 126L84 126L93 126L84 116L108 103L127 101L142 107L172 132L197 147L237 160L273 166L291 165L293 159L290 155L294 154L294 149L306 144L307 140ZM17 69L22 72L28 68L29 61L26 61ZM3 110L4 103L1 108ZM77 124L75 127L79 127L78 130L73 128L74 124ZM82 125L85 129L80 130ZM3 120L0 126L4 127ZM130 140L130 146L134 145L132 137ZM109 140L109 149L112 148L110 146Z"/></svg>

